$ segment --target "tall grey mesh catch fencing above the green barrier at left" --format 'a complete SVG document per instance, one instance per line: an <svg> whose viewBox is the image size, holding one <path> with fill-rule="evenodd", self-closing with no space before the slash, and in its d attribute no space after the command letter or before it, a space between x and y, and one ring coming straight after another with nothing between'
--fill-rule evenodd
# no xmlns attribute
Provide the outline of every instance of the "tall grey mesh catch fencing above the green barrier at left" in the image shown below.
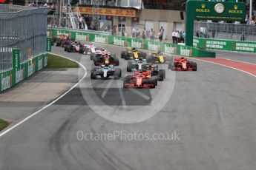
<svg viewBox="0 0 256 170"><path fill-rule="evenodd" d="M46 50L47 8L0 4L0 71L13 68L12 51L20 62Z"/></svg>

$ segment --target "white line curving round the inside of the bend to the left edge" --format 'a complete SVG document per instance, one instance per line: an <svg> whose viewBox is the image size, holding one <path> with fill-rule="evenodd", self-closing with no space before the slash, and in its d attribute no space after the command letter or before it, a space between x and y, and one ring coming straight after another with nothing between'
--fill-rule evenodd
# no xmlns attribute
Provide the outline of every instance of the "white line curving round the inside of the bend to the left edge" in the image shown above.
<svg viewBox="0 0 256 170"><path fill-rule="evenodd" d="M49 52L50 53L50 52ZM50 53L53 54L53 53ZM53 55L58 55L58 54L53 54ZM62 58L67 58L64 57L62 55L58 55ZM29 120L30 118L32 118L33 116L39 114L39 112L42 112L43 110L47 109L49 106L53 105L53 103L56 103L56 101L59 101L59 99L63 98L65 95L68 94L68 92L70 92L72 89L74 89L76 86L78 86L79 84L81 84L81 82L85 79L86 75L87 75L87 69L85 68L84 65L82 65L81 63L79 63L78 61L74 61L70 58L67 58L70 61L76 62L77 64L79 64L80 67L82 67L82 69L85 70L85 74L83 75L83 77L72 87L70 87L70 89L68 89L67 92L63 93L62 95L59 96L59 98L56 98L54 101L52 101L51 103L47 104L46 106L44 106L42 109L39 109L38 111L34 112L32 115L29 115L27 118L24 118L23 120L21 120L19 123L16 123L13 126L10 126L10 128L7 128L6 130L4 130L4 132L0 133L0 137L2 137L3 135L7 134L8 132L10 132L11 130L15 129L16 127L20 126L22 123L26 122L27 120Z"/></svg>

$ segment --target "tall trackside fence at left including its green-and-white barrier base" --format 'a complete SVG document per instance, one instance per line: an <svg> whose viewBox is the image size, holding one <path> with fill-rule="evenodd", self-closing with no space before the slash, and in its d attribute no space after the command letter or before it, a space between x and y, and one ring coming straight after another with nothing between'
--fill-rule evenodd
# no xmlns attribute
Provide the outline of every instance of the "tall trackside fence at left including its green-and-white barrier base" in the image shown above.
<svg viewBox="0 0 256 170"><path fill-rule="evenodd" d="M47 66L47 12L0 4L0 92Z"/></svg>

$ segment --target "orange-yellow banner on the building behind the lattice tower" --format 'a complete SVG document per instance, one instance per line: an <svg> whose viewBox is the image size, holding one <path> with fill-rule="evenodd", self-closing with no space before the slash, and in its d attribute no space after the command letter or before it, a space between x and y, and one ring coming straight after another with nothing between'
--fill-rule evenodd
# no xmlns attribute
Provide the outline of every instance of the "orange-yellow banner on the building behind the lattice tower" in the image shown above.
<svg viewBox="0 0 256 170"><path fill-rule="evenodd" d="M93 8L92 7L79 7L79 11L82 14L93 14ZM101 16L135 17L136 16L136 10L99 8L99 15L101 15Z"/></svg>

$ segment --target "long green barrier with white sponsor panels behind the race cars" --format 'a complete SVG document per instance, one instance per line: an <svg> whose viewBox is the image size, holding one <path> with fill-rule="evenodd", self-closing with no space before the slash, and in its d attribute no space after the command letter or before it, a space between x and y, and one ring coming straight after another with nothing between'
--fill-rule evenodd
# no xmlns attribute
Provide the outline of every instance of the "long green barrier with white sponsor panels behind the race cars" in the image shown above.
<svg viewBox="0 0 256 170"><path fill-rule="evenodd" d="M122 47L136 47L143 50L161 50L174 55L184 55L188 57L215 58L215 52L208 52L197 47L187 47L179 44L148 41L142 38L129 38L114 35L104 35L102 33L91 33L82 30L64 30L59 28L48 28L47 35L56 36L65 34L77 41L90 41L102 44L112 44Z"/></svg>

